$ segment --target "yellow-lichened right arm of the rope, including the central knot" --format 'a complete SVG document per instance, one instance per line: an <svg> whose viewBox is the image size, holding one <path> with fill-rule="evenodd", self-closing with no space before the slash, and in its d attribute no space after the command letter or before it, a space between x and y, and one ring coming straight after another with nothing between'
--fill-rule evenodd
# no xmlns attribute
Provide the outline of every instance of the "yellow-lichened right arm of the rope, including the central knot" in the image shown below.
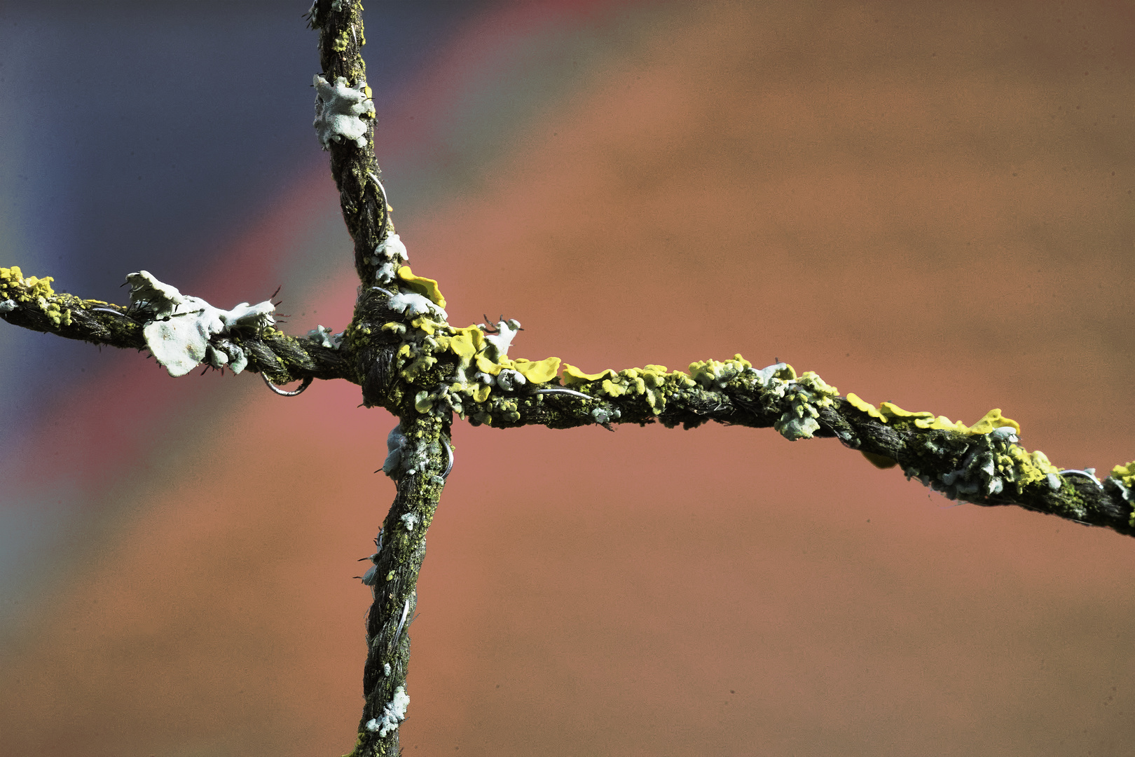
<svg viewBox="0 0 1135 757"><path fill-rule="evenodd" d="M363 396L395 414L456 414L496 428L661 423L690 429L715 421L772 427L790 440L834 437L873 464L898 465L908 479L951 499L1018 505L1135 536L1135 465L1117 466L1103 481L1093 471L1059 469L1043 453L1020 446L1019 424L1000 410L967 427L891 403L875 407L854 394L841 396L810 371L798 376L784 363L757 370L740 355L696 362L689 372L646 365L588 375L563 365L561 376L558 358L507 356L520 327L515 321L495 329L452 327L444 311L430 310L423 295L413 294L414 286L364 291L352 326L356 330L345 335L382 335L381 350L370 353ZM418 314L407 304L413 296L424 303ZM363 375L365 367L358 370Z"/></svg>

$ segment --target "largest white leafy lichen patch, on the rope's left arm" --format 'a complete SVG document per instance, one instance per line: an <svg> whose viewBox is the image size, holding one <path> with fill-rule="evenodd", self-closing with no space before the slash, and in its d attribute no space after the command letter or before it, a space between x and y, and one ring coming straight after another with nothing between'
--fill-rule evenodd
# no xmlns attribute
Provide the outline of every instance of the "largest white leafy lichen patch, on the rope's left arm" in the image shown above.
<svg viewBox="0 0 1135 757"><path fill-rule="evenodd" d="M205 361L239 373L249 364L244 351L228 339L210 339L233 329L259 330L276 322L271 301L255 305L242 302L232 310L220 310L182 294L149 271L131 274L126 283L131 285L131 311L146 317L142 327L145 344L170 376L185 376Z"/></svg>

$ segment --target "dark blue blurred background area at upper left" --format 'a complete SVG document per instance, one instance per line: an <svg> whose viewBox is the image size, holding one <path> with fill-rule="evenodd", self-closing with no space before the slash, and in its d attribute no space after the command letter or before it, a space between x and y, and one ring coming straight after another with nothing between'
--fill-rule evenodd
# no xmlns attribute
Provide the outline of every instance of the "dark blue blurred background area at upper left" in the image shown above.
<svg viewBox="0 0 1135 757"><path fill-rule="evenodd" d="M377 100L484 3L370 5ZM0 266L109 301L143 268L190 287L235 229L326 165L311 127L308 7L0 5ZM11 328L0 350L0 403L19 415L57 385L49 367L103 362L87 345Z"/></svg>

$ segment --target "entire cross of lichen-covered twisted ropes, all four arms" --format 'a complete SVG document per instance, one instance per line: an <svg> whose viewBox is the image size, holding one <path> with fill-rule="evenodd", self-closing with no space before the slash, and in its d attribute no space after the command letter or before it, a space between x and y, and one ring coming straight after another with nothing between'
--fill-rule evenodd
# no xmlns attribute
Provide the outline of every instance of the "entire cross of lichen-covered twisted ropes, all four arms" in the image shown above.
<svg viewBox="0 0 1135 757"><path fill-rule="evenodd" d="M841 396L812 372L787 363L756 369L740 355L706 360L688 371L645 365L586 373L557 358L511 358L520 323L456 328L434 279L415 275L394 232L373 151L373 107L361 58L358 2L316 3L322 73L316 77L316 128L331 155L344 219L361 280L342 335L302 338L274 328L271 303L222 311L140 271L128 305L57 294L51 280L0 272L0 312L18 326L117 347L149 348L171 375L202 363L260 372L274 388L343 378L369 406L398 417L384 471L397 496L380 531L364 582L375 603L368 626L367 704L356 754L396 754L409 701L407 628L415 608L424 536L453 464L454 417L501 428L659 422L693 428L707 421L773 427L789 439L836 437L880 466L980 505L1016 504L1121 533L1132 527L1135 468L1060 470L1019 444L1019 426L991 411L973 426L911 413L854 394ZM488 319L486 319L488 320ZM296 394L300 390L288 393Z"/></svg>

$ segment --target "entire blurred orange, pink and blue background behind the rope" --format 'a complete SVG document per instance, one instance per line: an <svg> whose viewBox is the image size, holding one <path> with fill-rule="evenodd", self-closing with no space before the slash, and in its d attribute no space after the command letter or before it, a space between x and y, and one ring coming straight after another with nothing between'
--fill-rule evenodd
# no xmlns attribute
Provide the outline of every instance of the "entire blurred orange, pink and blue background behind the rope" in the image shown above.
<svg viewBox="0 0 1135 757"><path fill-rule="evenodd" d="M0 264L338 331L308 2L0 5ZM451 321L598 371L740 352L1135 457L1127 2L367 3ZM394 419L0 328L6 754L339 755ZM454 428L407 754L1126 755L1129 538L836 441Z"/></svg>

